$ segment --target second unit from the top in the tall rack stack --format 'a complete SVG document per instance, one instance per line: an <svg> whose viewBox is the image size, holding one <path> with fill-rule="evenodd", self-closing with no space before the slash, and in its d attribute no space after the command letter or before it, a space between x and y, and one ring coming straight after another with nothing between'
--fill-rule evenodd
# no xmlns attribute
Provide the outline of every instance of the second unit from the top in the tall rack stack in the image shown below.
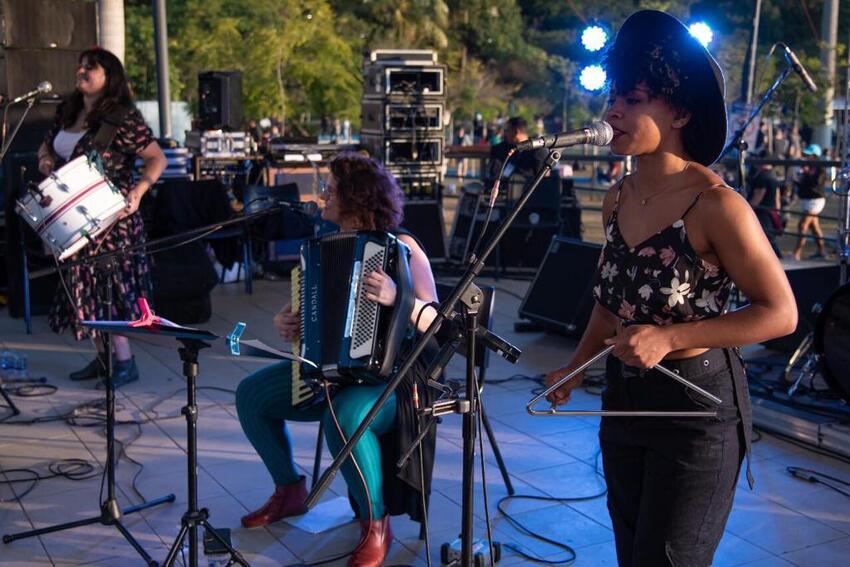
<svg viewBox="0 0 850 567"><path fill-rule="evenodd" d="M440 103L401 104L364 99L361 105L361 132L404 133L443 131L443 105Z"/></svg>

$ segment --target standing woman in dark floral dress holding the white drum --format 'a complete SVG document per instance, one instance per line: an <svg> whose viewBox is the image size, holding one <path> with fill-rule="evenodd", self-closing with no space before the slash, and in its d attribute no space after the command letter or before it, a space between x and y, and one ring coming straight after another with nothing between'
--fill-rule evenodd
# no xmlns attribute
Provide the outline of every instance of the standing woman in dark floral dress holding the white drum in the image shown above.
<svg viewBox="0 0 850 567"><path fill-rule="evenodd" d="M127 207L112 228L70 260L93 256L144 242L142 217L137 213L142 196L156 183L167 164L165 155L133 105L130 86L121 61L111 52L94 47L80 54L77 85L60 105L53 127L38 149L38 169L48 175L64 163L95 150L95 137L108 122L117 123L114 136L99 152L104 173L124 194ZM107 126L108 127L108 126ZM136 156L144 161L144 174L133 178ZM112 313L106 313L105 292L98 282L105 274L112 286ZM81 323L94 319L131 320L140 313L137 300L152 298L148 261L144 253L119 255L102 270L94 265L74 266L62 273L50 309L50 327L57 333L70 329L77 340L95 335ZM100 355L103 343L95 335L99 356L85 368L72 372L71 380L89 380L105 374ZM115 353L113 379L116 386L138 380L139 370L125 337L112 338Z"/></svg>

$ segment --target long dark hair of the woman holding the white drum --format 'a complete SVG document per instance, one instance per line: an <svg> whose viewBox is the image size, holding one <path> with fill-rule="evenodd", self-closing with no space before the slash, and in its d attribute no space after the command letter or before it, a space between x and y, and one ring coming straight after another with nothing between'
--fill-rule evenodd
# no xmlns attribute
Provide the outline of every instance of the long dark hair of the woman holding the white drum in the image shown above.
<svg viewBox="0 0 850 567"><path fill-rule="evenodd" d="M100 124L104 116L108 115L118 106L133 106L133 94L124 73L121 60L114 53L101 47L92 47L80 53L78 59L91 65L100 65L106 73L106 84L103 95L95 104L95 107L86 116L86 126L93 128ZM83 110L83 93L79 90L74 92L65 101L62 108L62 127L70 128L77 120L80 111Z"/></svg>

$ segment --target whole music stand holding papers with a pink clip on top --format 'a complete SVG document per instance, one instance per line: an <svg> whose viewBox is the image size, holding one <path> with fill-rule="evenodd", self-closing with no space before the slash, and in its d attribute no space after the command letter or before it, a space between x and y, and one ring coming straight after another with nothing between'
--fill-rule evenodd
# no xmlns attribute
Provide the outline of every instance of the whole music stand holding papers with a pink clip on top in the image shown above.
<svg viewBox="0 0 850 567"><path fill-rule="evenodd" d="M174 564L177 554L182 547L186 536L189 536L189 557L187 564L190 567L198 565L198 526L215 538L228 553L230 562L228 565L237 563L248 567L248 562L242 555L233 549L230 542L224 539L209 521L209 510L198 509L198 405L196 400L195 379L198 377L198 353L201 349L208 348L218 335L201 329L183 327L171 323L166 319L156 317L147 307L147 302L139 300L142 306L142 318L131 323L112 321L92 321L87 326L109 333L119 334L143 334L152 337L173 338L183 346L177 349L180 360L183 361L183 376L186 377L186 405L180 410L186 416L186 458L187 458L187 481L188 481L188 503L186 513L180 519L180 531L174 539L174 543L168 550L168 555L163 561L163 566Z"/></svg>

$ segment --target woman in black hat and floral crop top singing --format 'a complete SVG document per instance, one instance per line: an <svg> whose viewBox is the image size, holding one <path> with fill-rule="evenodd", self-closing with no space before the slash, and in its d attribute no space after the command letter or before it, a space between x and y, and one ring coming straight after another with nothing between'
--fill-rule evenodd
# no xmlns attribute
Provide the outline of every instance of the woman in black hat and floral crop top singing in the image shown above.
<svg viewBox="0 0 850 567"><path fill-rule="evenodd" d="M607 55L613 152L637 171L605 198L596 305L553 384L607 345L609 410L717 410L716 418L602 419L620 565L710 565L751 428L735 348L788 334L790 286L747 202L708 169L726 137L723 75L677 19L633 14ZM748 306L725 313L732 285ZM712 406L652 368L713 393ZM581 376L553 392L565 403ZM748 480L751 480L749 469Z"/></svg>

